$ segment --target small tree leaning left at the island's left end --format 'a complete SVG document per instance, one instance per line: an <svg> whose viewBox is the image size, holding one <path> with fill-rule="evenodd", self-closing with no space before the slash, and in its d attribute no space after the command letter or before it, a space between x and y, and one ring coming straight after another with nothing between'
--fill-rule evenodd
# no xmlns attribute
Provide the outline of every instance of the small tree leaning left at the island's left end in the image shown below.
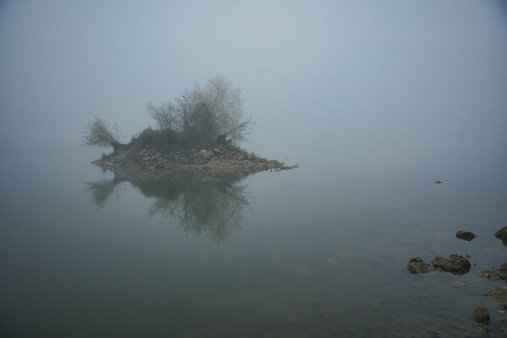
<svg viewBox="0 0 507 338"><path fill-rule="evenodd" d="M110 127L98 116L94 115L93 117L95 120L90 121L90 124L86 126L86 131L83 132L83 134L86 134L82 136L85 143L81 145L96 145L103 148L112 146L115 155L118 154L118 149L121 146L120 139L124 137L122 136L123 130L118 128L116 123Z"/></svg>

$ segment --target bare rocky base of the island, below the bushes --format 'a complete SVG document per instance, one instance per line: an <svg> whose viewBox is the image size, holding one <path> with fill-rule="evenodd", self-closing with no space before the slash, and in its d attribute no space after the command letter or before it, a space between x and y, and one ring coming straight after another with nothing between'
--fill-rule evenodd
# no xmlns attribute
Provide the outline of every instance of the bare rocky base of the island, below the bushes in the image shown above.
<svg viewBox="0 0 507 338"><path fill-rule="evenodd" d="M283 162L255 155L228 151L222 145L201 149L190 146L178 152L165 153L158 149L120 148L112 158L100 159L93 164L122 169L206 170L215 172L259 171L270 168L288 168Z"/></svg>

